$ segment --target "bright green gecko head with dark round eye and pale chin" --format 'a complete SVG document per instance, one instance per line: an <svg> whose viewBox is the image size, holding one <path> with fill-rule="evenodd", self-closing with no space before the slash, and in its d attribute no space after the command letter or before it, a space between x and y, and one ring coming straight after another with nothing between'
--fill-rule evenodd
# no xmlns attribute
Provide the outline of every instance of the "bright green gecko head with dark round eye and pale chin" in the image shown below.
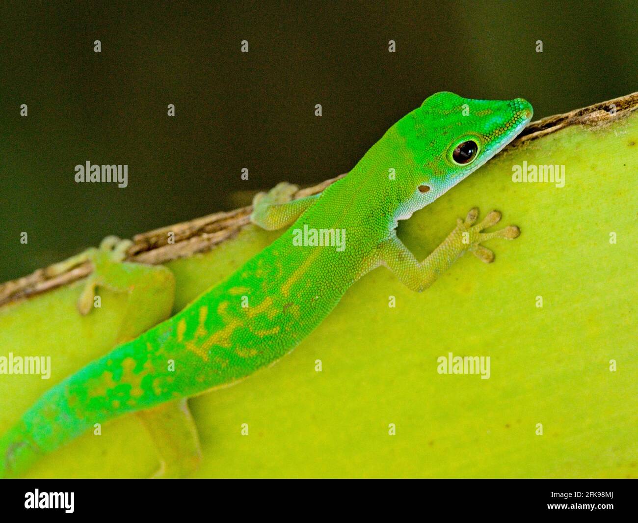
<svg viewBox="0 0 638 523"><path fill-rule="evenodd" d="M532 114L523 98L472 100L446 92L429 96L397 123L416 167L413 187L408 188L417 192L411 197L416 206L429 204L479 169L525 128Z"/></svg>

